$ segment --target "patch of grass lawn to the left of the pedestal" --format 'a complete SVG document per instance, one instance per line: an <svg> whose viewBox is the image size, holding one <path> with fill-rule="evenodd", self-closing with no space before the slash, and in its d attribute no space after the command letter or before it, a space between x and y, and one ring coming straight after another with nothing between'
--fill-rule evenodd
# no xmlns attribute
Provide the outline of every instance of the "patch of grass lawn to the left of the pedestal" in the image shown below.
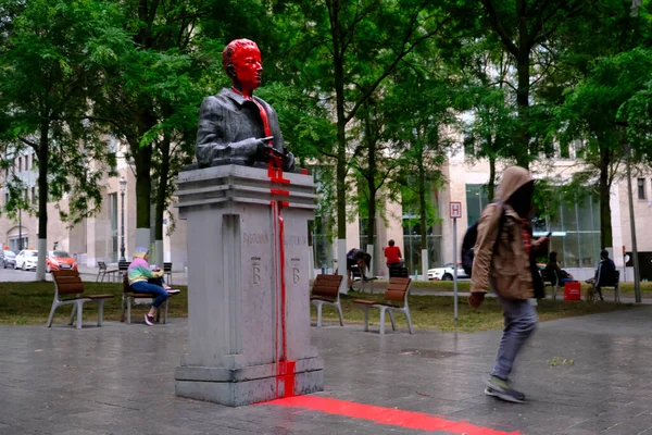
<svg viewBox="0 0 652 435"><path fill-rule="evenodd" d="M111 294L115 297L104 302L104 320L120 320L122 303L122 283L84 283L86 293L92 295ZM171 318L185 318L188 315L187 289L175 286L181 294L170 300L168 315ZM52 299L54 298L53 283L0 283L0 324L28 325L46 324ZM73 306L59 307L54 313L53 323L64 323L71 315ZM142 322L147 306L136 306L131 309L131 321ZM96 322L98 319L98 304L84 303L84 320Z"/></svg>

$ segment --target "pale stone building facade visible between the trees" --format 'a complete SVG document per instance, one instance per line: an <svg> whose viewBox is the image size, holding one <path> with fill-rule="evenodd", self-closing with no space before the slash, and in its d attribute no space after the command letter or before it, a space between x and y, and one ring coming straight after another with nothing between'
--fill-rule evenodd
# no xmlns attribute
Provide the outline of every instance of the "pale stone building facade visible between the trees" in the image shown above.
<svg viewBox="0 0 652 435"><path fill-rule="evenodd" d="M103 201L101 212L86 219L82 223L70 226L59 219L57 204L48 207L48 248L58 243L59 249L67 250L77 257L79 263L96 266L98 261L116 262L122 248L122 219L124 207L124 246L125 257L131 258L136 240L136 192L134 169L124 159L124 153L117 150L117 176L105 177L103 184ZM37 167L34 154L29 152L14 156L15 174L23 181L25 195L33 209L36 209ZM559 181L560 184L570 178L580 165L570 158L557 156L552 164L535 164L532 173L536 178ZM498 167L498 173L503 170ZM489 182L489 163L487 161L469 162L463 152L450 156L442 169L446 178L443 187L434 190L430 201L437 204L439 219L426 228L426 246L422 246L422 228L416 219L416 212L399 202L386 202L380 208L384 215L376 216L376 234L368 237L366 225L362 219L351 219L347 223L347 250L352 248L373 249L374 272L377 275L388 274L383 254L384 247L390 239L403 252L405 263L414 274L423 275L422 257L427 254L428 268L441 266L453 261L453 251L460 249L466 228L475 223L481 210L488 204L486 185ZM120 189L120 178L127 181L124 197ZM652 173L637 174L632 179L634 210L636 217L638 250L641 260L641 276L652 279L652 232L645 231L645 223L652 222ZM2 188L0 206L9 199L9 189ZM124 198L124 201L123 201ZM559 210L551 215L538 215L534 220L535 234L543 236L552 232L551 249L557 251L561 265L578 278L589 277L599 261L602 248L610 248L618 268L631 265L631 231L628 206L627 181L616 178L611 191L613 247L600 246L600 210L597 199L585 197L577 201L561 203ZM462 217L457 222L457 246L453 246L453 223L449 216L449 203L462 203ZM60 207L66 207L65 198ZM33 210L34 211L34 210ZM350 213L355 215L355 213ZM152 212L153 216L153 212ZM174 231L168 233L174 222ZM166 213L164 221L164 258L153 259L153 262L173 262L175 270L186 266L186 223L178 219L174 208ZM334 271L338 268L337 240L329 239L324 231L329 223L322 222L317 214L312 227L311 257L315 270ZM153 222L152 222L153 227ZM0 216L0 240L4 246L17 251L23 248L35 248L38 239L38 219L27 210L22 211L15 219L9 219L5 213ZM152 232L153 252L153 232ZM623 278L631 279L632 272L623 270Z"/></svg>

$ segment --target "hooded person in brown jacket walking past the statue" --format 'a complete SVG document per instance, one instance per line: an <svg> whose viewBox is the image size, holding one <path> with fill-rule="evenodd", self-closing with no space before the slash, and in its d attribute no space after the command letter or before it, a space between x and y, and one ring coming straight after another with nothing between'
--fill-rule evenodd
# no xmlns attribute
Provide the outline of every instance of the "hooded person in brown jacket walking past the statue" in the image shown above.
<svg viewBox="0 0 652 435"><path fill-rule="evenodd" d="M491 287L502 304L505 328L485 394L519 403L525 395L510 386L510 373L537 326L537 310L528 299L542 297L535 254L548 245L547 237L532 240L534 189L527 170L513 166L503 173L499 201L489 204L479 220L468 298L468 303L478 308Z"/></svg>

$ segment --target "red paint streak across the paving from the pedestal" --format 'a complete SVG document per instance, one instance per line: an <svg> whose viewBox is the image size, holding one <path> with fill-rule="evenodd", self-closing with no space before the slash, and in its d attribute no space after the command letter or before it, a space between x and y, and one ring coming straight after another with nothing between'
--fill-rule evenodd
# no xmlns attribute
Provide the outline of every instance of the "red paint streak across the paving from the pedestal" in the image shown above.
<svg viewBox="0 0 652 435"><path fill-rule="evenodd" d="M521 435L519 432L503 432L489 427L476 426L466 422L456 422L442 417L423 412L403 411L394 408L376 407L355 403L327 397L297 396L277 399L260 405L275 405L285 408L303 408L328 414L344 415L352 419L373 421L378 424L412 428L415 431L446 431L453 434L467 435Z"/></svg>

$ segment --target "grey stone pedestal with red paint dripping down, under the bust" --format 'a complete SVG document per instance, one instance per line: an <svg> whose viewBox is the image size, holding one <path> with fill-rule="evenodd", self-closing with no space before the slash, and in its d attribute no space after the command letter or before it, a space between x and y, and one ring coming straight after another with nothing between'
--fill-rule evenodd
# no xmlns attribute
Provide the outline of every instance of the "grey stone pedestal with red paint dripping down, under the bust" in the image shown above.
<svg viewBox="0 0 652 435"><path fill-rule="evenodd" d="M323 389L311 345L312 176L225 165L179 174L188 353L177 396L238 407Z"/></svg>

